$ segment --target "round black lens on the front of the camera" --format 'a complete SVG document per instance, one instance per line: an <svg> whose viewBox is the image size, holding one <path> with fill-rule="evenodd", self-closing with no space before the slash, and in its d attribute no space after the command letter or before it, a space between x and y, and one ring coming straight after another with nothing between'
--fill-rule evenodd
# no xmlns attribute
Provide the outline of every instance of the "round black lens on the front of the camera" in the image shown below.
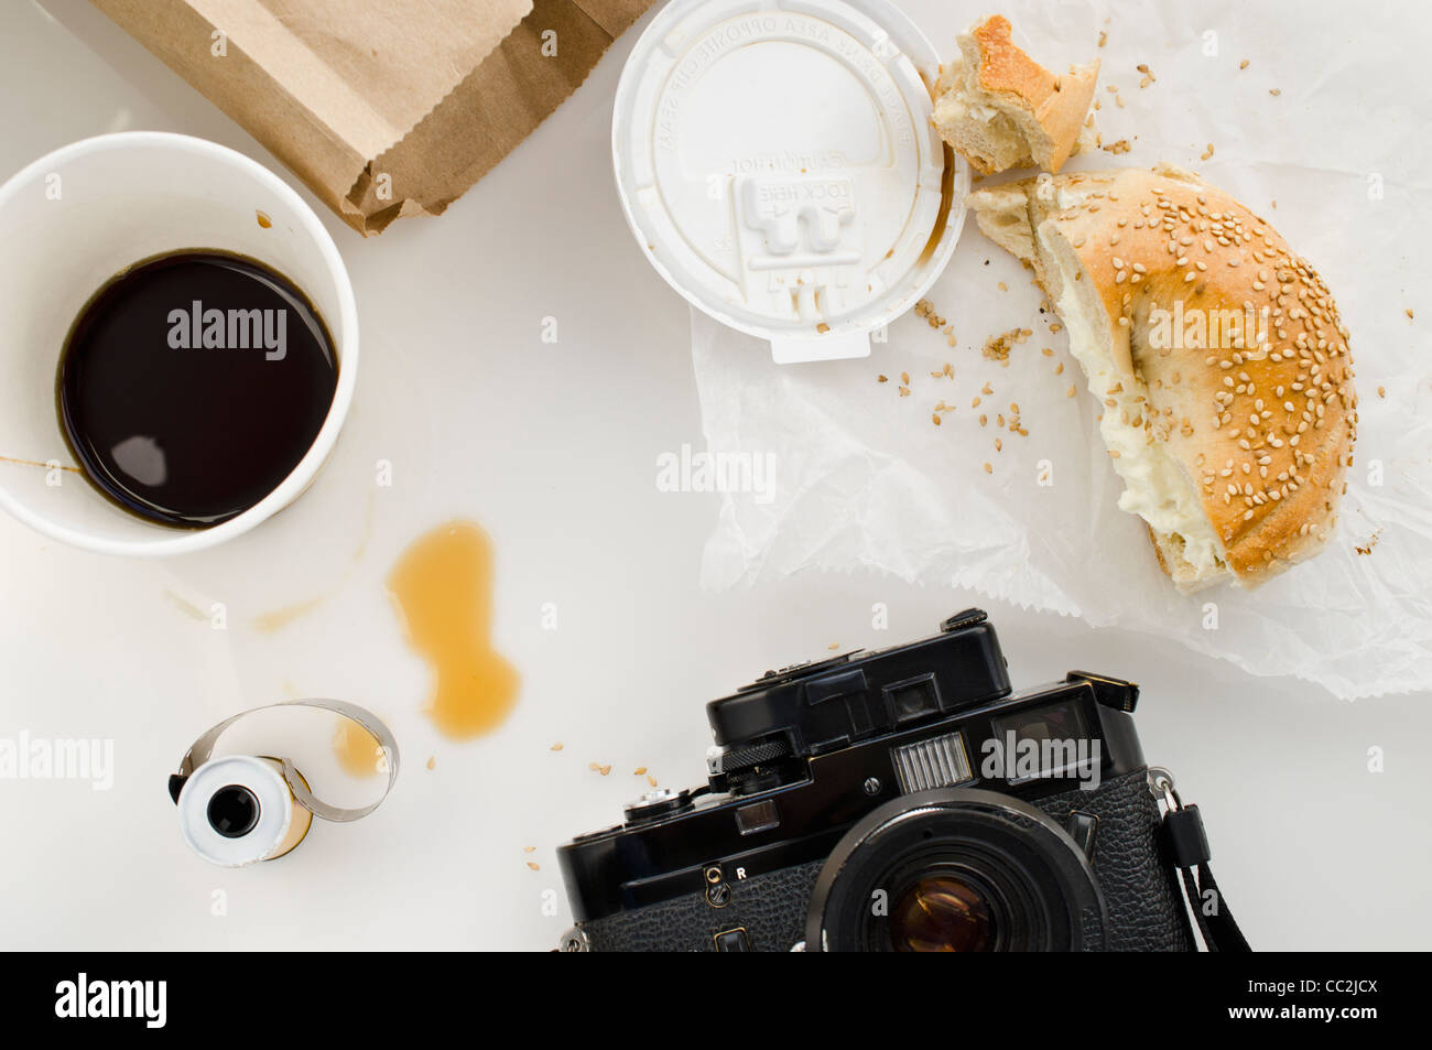
<svg viewBox="0 0 1432 1050"><path fill-rule="evenodd" d="M831 852L806 915L821 951L1088 951L1106 930L1074 839L1028 802L969 788L868 814Z"/></svg>

